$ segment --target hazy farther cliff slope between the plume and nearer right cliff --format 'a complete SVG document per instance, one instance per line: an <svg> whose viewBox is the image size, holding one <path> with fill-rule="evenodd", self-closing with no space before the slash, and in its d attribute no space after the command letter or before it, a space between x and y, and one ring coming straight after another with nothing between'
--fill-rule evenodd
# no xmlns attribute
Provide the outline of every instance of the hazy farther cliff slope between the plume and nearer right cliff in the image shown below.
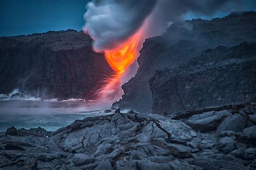
<svg viewBox="0 0 256 170"><path fill-rule="evenodd" d="M233 12L224 18L174 23L162 36L146 39L138 58L138 72L122 86L123 99L113 106L150 112L149 80L157 69L176 68L207 48L231 47L243 41L256 41L256 12Z"/></svg>

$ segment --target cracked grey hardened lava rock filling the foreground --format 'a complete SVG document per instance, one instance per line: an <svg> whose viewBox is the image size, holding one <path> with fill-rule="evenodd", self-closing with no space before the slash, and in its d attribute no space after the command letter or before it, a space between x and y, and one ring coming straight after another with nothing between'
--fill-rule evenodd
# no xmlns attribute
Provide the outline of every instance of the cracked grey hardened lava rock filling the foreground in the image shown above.
<svg viewBox="0 0 256 170"><path fill-rule="evenodd" d="M255 169L255 141L254 103L172 115L117 109L55 132L8 129L0 168Z"/></svg>

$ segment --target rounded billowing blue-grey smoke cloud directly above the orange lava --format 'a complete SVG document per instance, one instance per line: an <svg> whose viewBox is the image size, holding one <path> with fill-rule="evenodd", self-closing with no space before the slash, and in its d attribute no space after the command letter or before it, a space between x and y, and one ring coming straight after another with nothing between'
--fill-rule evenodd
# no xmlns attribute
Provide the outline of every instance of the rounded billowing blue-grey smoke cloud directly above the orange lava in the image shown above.
<svg viewBox="0 0 256 170"><path fill-rule="evenodd" d="M142 26L157 0L95 0L86 5L84 30L96 51L113 49Z"/></svg>

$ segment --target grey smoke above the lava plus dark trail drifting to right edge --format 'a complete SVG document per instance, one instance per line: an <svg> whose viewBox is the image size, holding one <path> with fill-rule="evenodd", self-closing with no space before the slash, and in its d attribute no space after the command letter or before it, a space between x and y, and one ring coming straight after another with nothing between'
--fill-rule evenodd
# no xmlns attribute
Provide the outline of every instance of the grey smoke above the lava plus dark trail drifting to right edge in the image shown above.
<svg viewBox="0 0 256 170"><path fill-rule="evenodd" d="M98 0L87 4L84 30L94 39L93 47L104 51L116 47L142 26L147 18L147 36L157 36L186 13L213 15L239 10L254 0Z"/></svg>

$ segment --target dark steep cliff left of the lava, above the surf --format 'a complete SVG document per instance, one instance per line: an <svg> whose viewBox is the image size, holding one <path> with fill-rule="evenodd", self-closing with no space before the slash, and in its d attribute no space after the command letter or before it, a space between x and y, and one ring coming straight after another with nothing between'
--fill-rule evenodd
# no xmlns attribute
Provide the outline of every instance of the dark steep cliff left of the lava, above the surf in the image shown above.
<svg viewBox="0 0 256 170"><path fill-rule="evenodd" d="M85 98L113 74L83 32L58 31L0 38L0 94L18 88L43 98Z"/></svg>

